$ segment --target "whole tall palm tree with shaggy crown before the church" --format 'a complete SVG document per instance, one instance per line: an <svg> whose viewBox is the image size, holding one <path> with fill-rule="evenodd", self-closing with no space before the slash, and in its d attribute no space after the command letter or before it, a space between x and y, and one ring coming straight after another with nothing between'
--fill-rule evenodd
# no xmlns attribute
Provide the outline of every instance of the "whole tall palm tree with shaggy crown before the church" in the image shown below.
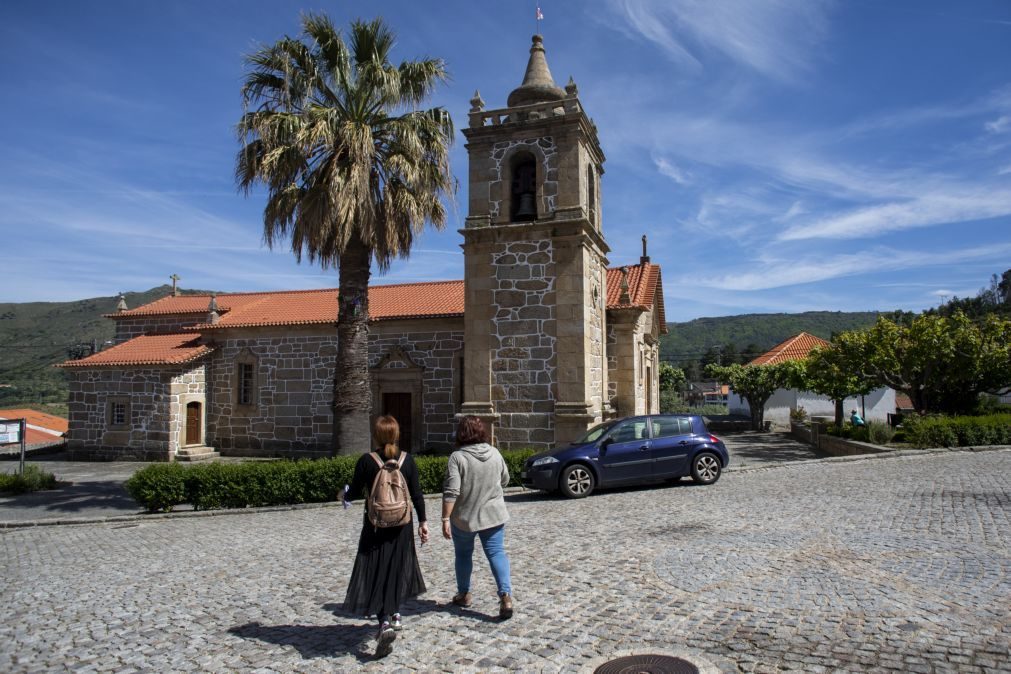
<svg viewBox="0 0 1011 674"><path fill-rule="evenodd" d="M442 228L453 186L453 125L443 108L420 109L447 79L440 59L389 62L394 34L354 21L346 42L321 14L302 16L299 38L246 57L242 149L236 181L267 190L263 236L290 238L302 256L339 271L333 449L369 447L368 286L406 258L426 222Z"/></svg>

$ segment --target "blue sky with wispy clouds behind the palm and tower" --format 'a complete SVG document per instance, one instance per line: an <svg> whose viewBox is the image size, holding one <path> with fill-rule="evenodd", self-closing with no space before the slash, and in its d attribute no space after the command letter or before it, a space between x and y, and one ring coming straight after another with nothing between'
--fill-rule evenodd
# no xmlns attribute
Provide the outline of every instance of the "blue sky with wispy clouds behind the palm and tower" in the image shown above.
<svg viewBox="0 0 1011 674"><path fill-rule="evenodd" d="M490 7L494 6L494 10ZM334 287L262 244L235 187L243 56L381 13L396 60L440 57L457 128L504 107L535 2L0 4L0 301L65 301L181 277L221 291ZM921 310L1011 268L1011 2L543 0L608 161L612 266L640 237L669 320ZM467 158L442 232L374 283L459 279Z"/></svg>

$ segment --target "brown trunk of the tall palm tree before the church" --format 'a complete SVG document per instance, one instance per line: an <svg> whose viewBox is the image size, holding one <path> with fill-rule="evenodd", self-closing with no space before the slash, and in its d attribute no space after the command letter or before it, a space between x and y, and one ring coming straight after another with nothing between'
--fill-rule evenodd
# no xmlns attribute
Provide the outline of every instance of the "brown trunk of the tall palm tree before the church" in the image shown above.
<svg viewBox="0 0 1011 674"><path fill-rule="evenodd" d="M349 242L340 259L337 365L334 368L333 453L365 454L372 447L372 382L369 376L369 277L372 252Z"/></svg>

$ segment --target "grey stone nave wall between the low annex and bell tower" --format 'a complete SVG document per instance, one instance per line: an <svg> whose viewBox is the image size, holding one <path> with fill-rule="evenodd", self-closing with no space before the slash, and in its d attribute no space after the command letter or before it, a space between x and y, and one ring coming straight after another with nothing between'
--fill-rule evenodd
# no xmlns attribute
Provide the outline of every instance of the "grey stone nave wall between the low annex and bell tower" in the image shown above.
<svg viewBox="0 0 1011 674"><path fill-rule="evenodd" d="M376 368L396 347L421 368L416 450L451 447L456 428L463 333L438 329L433 322L416 321L406 329L392 323L373 325L369 335L370 367ZM445 324L448 319L438 322ZM254 363L258 391L254 405L238 403L236 363L241 358ZM335 333L290 331L219 340L208 387L207 444L222 455L329 454L336 358ZM376 371L372 376L380 377ZM381 399L372 404L378 413ZM363 449L369 445L370 439L362 439Z"/></svg>

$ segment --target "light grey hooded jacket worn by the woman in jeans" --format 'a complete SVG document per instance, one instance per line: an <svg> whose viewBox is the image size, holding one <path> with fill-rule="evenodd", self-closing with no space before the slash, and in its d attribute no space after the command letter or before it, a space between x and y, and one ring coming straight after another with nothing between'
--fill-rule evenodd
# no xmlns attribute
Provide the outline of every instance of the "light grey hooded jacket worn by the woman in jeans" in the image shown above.
<svg viewBox="0 0 1011 674"><path fill-rule="evenodd" d="M451 520L465 532L481 532L509 521L502 487L509 469L498 450L478 443L449 457L443 501L454 503Z"/></svg>

